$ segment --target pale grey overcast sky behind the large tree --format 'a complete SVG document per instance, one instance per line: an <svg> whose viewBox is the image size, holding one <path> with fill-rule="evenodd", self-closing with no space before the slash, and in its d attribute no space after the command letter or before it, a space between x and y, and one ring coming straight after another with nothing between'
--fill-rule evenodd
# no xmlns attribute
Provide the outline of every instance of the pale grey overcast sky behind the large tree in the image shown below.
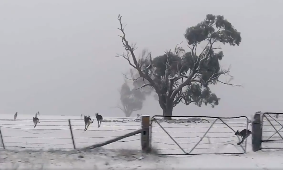
<svg viewBox="0 0 283 170"><path fill-rule="evenodd" d="M179 104L173 115L238 116L282 112L283 1L264 0L2 0L0 1L0 113L123 116L122 73L115 58L124 52L117 27L123 15L137 55L144 48L164 54L181 41L187 27L206 14L224 15L241 32L240 46L223 46L223 67L244 88L211 87L215 108ZM135 114L160 115L148 99Z"/></svg>

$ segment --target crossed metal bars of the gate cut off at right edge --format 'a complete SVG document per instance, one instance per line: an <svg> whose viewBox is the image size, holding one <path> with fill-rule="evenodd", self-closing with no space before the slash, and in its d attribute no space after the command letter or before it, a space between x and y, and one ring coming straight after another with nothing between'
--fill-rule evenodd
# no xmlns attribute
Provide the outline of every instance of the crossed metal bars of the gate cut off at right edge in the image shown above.
<svg viewBox="0 0 283 170"><path fill-rule="evenodd" d="M270 116L270 115L274 115L274 117ZM268 123L270 123L270 125L272 126L272 128L274 128L275 132L273 135L271 135L267 140L262 140L262 142L270 142L270 141L282 141L283 140L283 137L282 135L279 133L280 130L283 129L283 125L281 123L279 123L276 119L278 117L281 117L280 115L282 115L283 117L283 113L272 113L272 112L266 112L266 113L263 113L262 114L262 129L264 129L264 125L263 125L263 122L265 122L264 119L266 119L266 121ZM272 122L269 120L269 118L271 118L272 120L274 120L275 122L277 122L280 126L282 126L279 130L276 129L276 127L272 124ZM276 140L270 140L270 138L272 138L275 134L278 134L280 136L281 139L276 139ZM262 147L262 149L282 149L282 147Z"/></svg>

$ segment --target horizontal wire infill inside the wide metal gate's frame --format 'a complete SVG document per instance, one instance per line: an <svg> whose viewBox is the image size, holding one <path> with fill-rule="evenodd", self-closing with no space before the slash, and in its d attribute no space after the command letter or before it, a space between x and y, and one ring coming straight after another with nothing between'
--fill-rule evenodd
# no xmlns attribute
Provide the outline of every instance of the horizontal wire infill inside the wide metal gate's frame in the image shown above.
<svg viewBox="0 0 283 170"><path fill-rule="evenodd" d="M190 154L223 153L222 148L229 144L234 146L229 149L225 147L224 152L239 153L240 146L237 145L239 138L235 135L235 132L246 129L248 120L222 120L225 123L214 122L213 119L210 119L209 122L190 124L153 122L152 146L162 154L180 155L182 150ZM242 144L244 148L245 144Z"/></svg>

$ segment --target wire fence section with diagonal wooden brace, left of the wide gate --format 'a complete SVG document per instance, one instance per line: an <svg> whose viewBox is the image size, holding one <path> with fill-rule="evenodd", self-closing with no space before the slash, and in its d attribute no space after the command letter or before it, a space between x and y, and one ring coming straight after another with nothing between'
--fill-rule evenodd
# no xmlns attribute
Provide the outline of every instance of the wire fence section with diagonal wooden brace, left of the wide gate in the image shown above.
<svg viewBox="0 0 283 170"><path fill-rule="evenodd" d="M105 141L110 141L106 147L111 149L123 147L139 149L141 146L137 141L141 140L138 135L141 132L140 122L140 118L107 119L99 128L97 122L93 122L87 131L84 131L85 125L82 119L42 119L35 128L32 120L1 119L0 135L2 147L10 149L74 149L91 145L99 147L105 144ZM123 139L125 136L127 140Z"/></svg>

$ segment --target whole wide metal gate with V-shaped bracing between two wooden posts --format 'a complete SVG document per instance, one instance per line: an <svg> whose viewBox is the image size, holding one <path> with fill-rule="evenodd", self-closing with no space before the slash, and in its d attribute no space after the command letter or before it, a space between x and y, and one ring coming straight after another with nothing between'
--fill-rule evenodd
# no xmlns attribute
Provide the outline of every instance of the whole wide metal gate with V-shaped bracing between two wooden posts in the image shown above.
<svg viewBox="0 0 283 170"><path fill-rule="evenodd" d="M177 119L167 121L163 120L164 117ZM243 154L246 153L247 139L242 144L236 145L241 141L241 138L236 136L235 132L248 129L248 126L249 120L246 116L153 116L151 121L152 145L169 146L170 148L158 149L156 146L152 146L152 148L159 155ZM157 131L158 129L159 131ZM176 136L177 134L179 136ZM204 140L208 142L204 143ZM188 148L188 145L191 147ZM206 147L199 148L199 146ZM221 149L224 151L220 152ZM169 150L169 153L160 153L160 150ZM178 151L178 153L174 151Z"/></svg>

